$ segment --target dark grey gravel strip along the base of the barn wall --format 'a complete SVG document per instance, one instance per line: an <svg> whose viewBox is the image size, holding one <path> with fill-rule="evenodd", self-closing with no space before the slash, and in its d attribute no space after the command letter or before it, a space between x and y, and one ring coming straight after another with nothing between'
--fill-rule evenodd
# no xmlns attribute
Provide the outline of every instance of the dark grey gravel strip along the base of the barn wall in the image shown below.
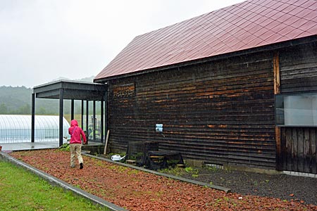
<svg viewBox="0 0 317 211"><path fill-rule="evenodd" d="M306 204L317 205L316 178L210 168L198 168L197 170L198 174L196 172L194 177L192 177L192 172L182 172L181 177L230 188L233 193L282 200L304 200ZM199 176L197 177L197 175Z"/></svg>

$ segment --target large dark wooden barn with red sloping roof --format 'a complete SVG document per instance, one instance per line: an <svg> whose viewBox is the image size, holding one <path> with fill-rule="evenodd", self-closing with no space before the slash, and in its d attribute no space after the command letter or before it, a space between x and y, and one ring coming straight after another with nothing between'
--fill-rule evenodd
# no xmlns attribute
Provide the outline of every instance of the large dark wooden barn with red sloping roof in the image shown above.
<svg viewBox="0 0 317 211"><path fill-rule="evenodd" d="M94 79L111 151L317 174L316 35L317 1L251 0L135 37Z"/></svg>

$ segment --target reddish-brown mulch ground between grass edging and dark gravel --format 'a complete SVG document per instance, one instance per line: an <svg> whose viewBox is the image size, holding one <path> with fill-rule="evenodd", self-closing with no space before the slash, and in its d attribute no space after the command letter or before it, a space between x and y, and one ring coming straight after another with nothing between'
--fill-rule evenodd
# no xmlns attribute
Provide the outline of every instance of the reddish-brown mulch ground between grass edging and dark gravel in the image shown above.
<svg viewBox="0 0 317 211"><path fill-rule="evenodd" d="M70 153L58 149L10 155L128 210L317 210L316 205L225 193L88 156L83 170L70 168Z"/></svg>

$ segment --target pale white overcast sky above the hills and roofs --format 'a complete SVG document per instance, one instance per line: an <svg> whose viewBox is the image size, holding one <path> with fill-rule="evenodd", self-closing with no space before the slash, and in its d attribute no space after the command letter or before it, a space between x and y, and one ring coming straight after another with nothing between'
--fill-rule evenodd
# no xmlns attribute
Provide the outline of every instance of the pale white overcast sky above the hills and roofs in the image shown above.
<svg viewBox="0 0 317 211"><path fill-rule="evenodd" d="M97 75L139 34L243 0L0 0L0 86Z"/></svg>

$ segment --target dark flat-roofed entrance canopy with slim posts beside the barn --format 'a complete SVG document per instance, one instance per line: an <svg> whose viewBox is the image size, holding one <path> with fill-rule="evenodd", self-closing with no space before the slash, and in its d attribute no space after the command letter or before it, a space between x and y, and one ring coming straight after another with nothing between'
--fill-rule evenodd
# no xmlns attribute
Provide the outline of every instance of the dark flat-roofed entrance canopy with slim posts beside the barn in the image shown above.
<svg viewBox="0 0 317 211"><path fill-rule="evenodd" d="M94 102L93 118L95 119L95 101L101 102L101 142L104 139L104 101L107 97L107 84L79 82L70 80L58 80L48 84L42 84L33 88L32 93L32 134L31 141L35 141L35 99L51 98L59 99L59 146L63 145L63 100L71 100L71 119L74 119L74 100L82 101L82 116L84 113L84 101L86 101L86 129L88 128L89 101ZM83 122L83 121L82 121ZM96 124L93 122L95 139Z"/></svg>

